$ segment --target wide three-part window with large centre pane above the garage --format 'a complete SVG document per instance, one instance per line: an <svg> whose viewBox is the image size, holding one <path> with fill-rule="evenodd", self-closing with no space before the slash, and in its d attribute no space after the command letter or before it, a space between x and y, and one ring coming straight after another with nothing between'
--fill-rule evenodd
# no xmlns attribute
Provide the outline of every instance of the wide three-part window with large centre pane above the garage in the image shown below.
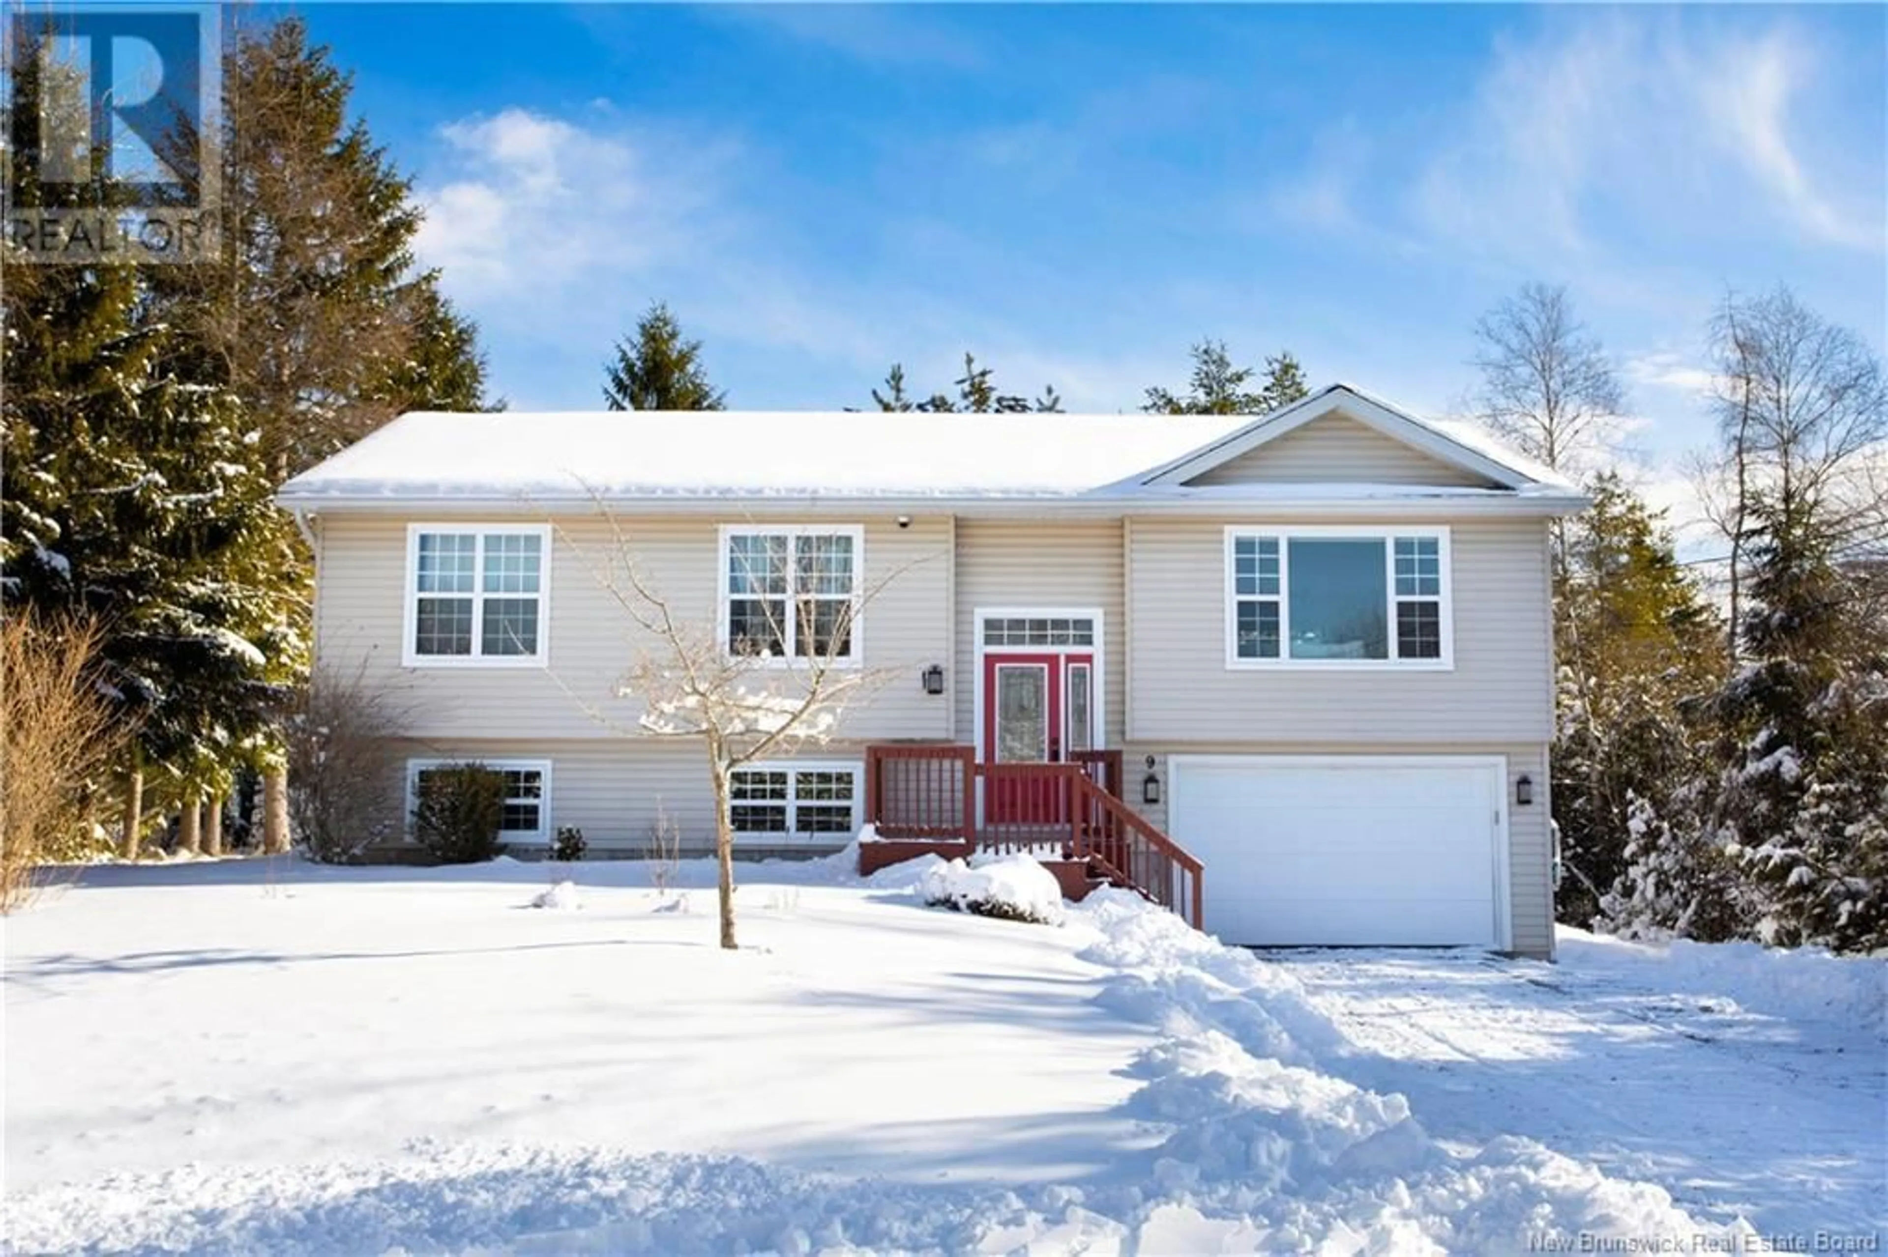
<svg viewBox="0 0 1888 1257"><path fill-rule="evenodd" d="M1446 528L1229 528L1229 666L1452 666Z"/></svg>

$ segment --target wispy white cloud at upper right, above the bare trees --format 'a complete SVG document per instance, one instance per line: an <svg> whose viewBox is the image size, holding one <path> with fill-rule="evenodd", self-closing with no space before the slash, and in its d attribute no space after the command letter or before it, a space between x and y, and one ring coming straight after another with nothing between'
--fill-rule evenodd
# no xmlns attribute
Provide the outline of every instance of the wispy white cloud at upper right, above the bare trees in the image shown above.
<svg viewBox="0 0 1888 1257"><path fill-rule="evenodd" d="M1422 132L1393 121L1369 138L1335 132L1274 185L1274 211L1414 236L1471 262L1588 272L1595 285L1622 221L1641 260L1728 223L1888 249L1879 155L1845 151L1873 123L1831 121L1818 96L1835 77L1831 53L1788 17L1765 30L1690 11L1580 8L1544 21L1541 36L1495 43L1454 117ZM1614 289L1656 289L1643 270L1614 266Z"/></svg>

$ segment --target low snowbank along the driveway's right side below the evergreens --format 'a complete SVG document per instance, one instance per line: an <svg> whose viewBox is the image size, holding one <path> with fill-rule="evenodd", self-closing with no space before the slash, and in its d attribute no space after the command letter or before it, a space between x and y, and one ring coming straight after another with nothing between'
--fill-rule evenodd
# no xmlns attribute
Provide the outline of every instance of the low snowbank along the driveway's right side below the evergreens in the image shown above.
<svg viewBox="0 0 1888 1257"><path fill-rule="evenodd" d="M1567 925L1558 927L1556 955L1569 970L1629 972L1673 995L1731 1000L1745 1012L1852 1027L1858 1034L1888 1040L1888 957L1688 938L1639 944Z"/></svg>

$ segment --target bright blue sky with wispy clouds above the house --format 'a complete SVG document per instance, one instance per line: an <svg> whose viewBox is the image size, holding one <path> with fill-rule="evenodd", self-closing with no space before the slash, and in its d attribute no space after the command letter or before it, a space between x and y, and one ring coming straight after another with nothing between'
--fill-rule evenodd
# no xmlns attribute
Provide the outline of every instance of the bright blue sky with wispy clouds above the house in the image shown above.
<svg viewBox="0 0 1888 1257"><path fill-rule="evenodd" d="M1879 6L329 6L521 408L598 404L666 298L731 404L974 349L1070 410L1188 345L1429 411L1565 283L1669 472L1703 323L1777 281L1888 336Z"/></svg>

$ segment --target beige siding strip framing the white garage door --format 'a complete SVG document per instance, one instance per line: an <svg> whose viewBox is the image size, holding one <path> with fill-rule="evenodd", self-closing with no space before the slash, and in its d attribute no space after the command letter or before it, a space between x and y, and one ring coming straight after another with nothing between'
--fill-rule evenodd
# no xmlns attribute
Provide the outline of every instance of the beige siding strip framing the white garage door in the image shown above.
<svg viewBox="0 0 1888 1257"><path fill-rule="evenodd" d="M1541 742L1433 742L1422 747L1382 742L1346 742L1306 746L1293 740L1267 738L1263 742L1129 742L1123 747L1127 763L1129 802L1150 825L1167 832L1167 791L1172 779L1167 772L1169 755L1505 755L1509 761L1509 923L1514 951L1546 959L1554 951L1554 842L1548 821L1554 815L1548 798L1546 746ZM1154 757L1154 772L1161 779L1161 802L1140 800L1140 781L1148 774L1146 761ZM1514 802L1514 781L1522 776L1533 781L1533 802ZM1212 866L1206 868L1212 880Z"/></svg>

